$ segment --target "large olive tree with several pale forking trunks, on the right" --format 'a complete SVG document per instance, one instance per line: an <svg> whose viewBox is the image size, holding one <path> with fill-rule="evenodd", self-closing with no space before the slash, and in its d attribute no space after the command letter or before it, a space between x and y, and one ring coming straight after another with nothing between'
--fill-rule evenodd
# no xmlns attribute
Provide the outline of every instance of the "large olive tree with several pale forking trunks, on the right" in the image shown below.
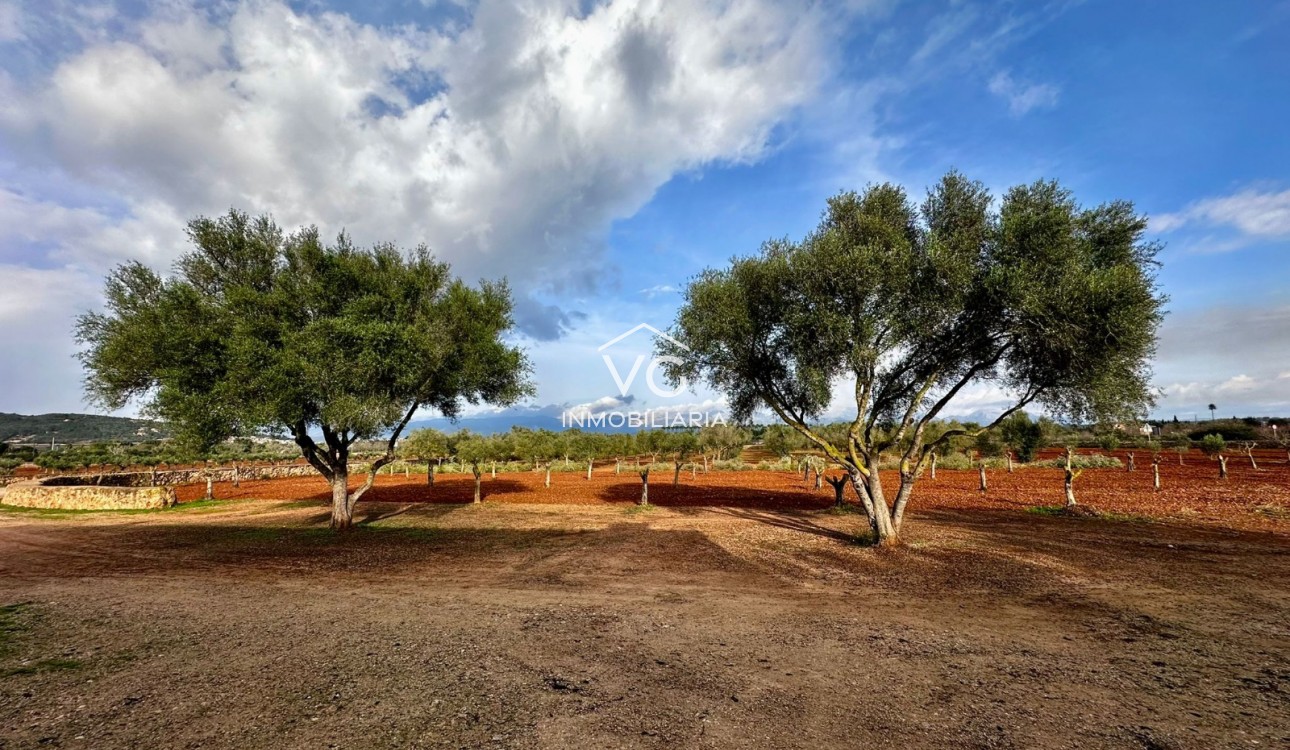
<svg viewBox="0 0 1290 750"><path fill-rule="evenodd" d="M876 543L899 540L928 456L1035 404L1071 418L1131 418L1152 401L1164 297L1158 247L1129 203L1081 208L1055 182L1014 187L997 213L949 173L921 207L893 185L828 201L801 241L703 271L658 349L667 374L707 382L735 420L761 408L851 479ZM844 440L810 427L848 383ZM965 389L1013 394L989 425L929 436ZM888 501L880 454L899 458Z"/></svg>

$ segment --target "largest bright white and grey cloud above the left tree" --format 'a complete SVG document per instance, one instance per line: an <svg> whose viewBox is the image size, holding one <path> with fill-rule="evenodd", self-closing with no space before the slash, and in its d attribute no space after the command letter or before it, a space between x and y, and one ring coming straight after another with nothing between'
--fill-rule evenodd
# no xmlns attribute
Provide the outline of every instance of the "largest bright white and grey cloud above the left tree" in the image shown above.
<svg viewBox="0 0 1290 750"><path fill-rule="evenodd" d="M4 196L59 262L161 262L183 218L239 207L426 241L521 296L586 288L609 223L677 172L761 157L827 41L818 13L769 0L482 0L461 28L279 0L166 3L101 34L77 18L84 44L48 75L0 80L10 155L102 194L75 209ZM32 241L6 231L10 256ZM519 312L537 338L570 320Z"/></svg>

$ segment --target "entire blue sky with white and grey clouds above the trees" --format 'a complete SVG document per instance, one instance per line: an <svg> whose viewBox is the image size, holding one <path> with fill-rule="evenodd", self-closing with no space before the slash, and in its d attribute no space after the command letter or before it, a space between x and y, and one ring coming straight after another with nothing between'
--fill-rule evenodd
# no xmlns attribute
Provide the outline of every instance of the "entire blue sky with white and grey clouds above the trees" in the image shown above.
<svg viewBox="0 0 1290 750"><path fill-rule="evenodd" d="M597 347L688 278L958 168L1135 201L1166 244L1157 413L1284 414L1287 37L1267 1L0 0L0 410L84 410L103 272L230 207L506 275L530 407L623 401Z"/></svg>

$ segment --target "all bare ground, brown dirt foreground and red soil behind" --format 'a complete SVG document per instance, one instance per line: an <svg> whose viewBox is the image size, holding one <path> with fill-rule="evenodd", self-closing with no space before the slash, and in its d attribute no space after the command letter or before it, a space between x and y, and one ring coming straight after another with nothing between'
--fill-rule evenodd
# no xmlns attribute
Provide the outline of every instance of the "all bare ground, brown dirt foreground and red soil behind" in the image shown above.
<svg viewBox="0 0 1290 750"><path fill-rule="evenodd" d="M1143 463L942 472L894 550L771 472L3 510L0 747L1290 746L1290 466Z"/></svg>

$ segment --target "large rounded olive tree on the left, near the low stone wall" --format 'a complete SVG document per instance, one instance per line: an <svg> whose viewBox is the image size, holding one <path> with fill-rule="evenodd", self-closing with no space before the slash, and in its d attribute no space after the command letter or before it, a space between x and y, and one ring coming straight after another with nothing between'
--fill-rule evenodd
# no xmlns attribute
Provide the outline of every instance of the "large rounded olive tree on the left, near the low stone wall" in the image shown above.
<svg viewBox="0 0 1290 750"><path fill-rule="evenodd" d="M530 389L524 354L502 341L504 283L471 288L426 248L326 245L239 212L187 231L195 249L172 275L123 265L106 311L80 316L86 391L108 408L139 399L200 447L290 434L332 484L333 528L351 525L418 409L454 417ZM350 448L377 436L387 449L351 491Z"/></svg>

